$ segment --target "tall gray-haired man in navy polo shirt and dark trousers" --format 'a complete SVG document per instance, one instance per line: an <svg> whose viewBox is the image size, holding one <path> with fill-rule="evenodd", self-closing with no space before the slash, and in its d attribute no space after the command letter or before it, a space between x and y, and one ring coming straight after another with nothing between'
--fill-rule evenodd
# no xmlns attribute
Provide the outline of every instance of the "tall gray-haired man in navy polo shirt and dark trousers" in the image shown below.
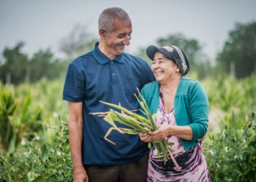
<svg viewBox="0 0 256 182"><path fill-rule="evenodd" d="M108 136L116 145L105 141L110 124L90 113L109 111L110 107L99 100L138 109L136 88L140 90L154 81L154 75L145 60L124 53L132 33L132 23L124 9L105 9L98 25L99 42L94 50L69 64L63 90L63 99L69 106L74 182L143 182L147 177L147 144L138 135L117 131Z"/></svg>

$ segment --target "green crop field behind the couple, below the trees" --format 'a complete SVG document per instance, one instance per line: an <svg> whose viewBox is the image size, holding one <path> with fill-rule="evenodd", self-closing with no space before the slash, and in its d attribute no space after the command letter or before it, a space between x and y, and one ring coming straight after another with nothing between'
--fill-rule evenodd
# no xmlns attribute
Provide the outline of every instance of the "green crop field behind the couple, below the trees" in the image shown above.
<svg viewBox="0 0 256 182"><path fill-rule="evenodd" d="M210 103L204 154L211 181L255 181L255 81L200 81ZM0 84L0 181L72 181L63 84Z"/></svg>

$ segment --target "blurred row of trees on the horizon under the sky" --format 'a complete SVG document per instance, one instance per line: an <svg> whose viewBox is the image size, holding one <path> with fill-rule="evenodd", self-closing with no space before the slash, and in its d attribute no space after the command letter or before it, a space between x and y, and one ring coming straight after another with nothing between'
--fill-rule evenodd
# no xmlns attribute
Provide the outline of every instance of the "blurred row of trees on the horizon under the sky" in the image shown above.
<svg viewBox="0 0 256 182"><path fill-rule="evenodd" d="M79 55L89 52L97 39L86 31L86 26L75 25L68 36L61 39L59 50L67 59L54 57L50 49L39 50L29 58L22 51L25 45L18 42L13 48L5 48L0 60L0 81L4 84L20 84L22 82L37 82L39 79L59 79L67 71L67 65ZM160 37L156 41L159 47L174 44L186 52L191 71L197 72L199 79L217 74L230 74L242 79L252 74L256 75L256 22L236 23L227 35L227 41L217 54L216 66L203 52L203 45L196 39L189 39L181 33ZM146 47L141 48L136 55L144 58Z"/></svg>

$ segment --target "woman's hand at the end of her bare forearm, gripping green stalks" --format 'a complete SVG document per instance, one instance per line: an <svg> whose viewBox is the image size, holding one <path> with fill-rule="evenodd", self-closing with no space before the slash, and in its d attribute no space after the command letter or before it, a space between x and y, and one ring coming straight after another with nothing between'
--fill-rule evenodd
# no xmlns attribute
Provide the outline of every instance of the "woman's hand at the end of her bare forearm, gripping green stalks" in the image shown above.
<svg viewBox="0 0 256 182"><path fill-rule="evenodd" d="M171 131L173 126L169 124L159 124L157 125L157 130L154 132L148 132L149 135L153 137L153 140L155 141L162 141L167 136L172 135Z"/></svg>

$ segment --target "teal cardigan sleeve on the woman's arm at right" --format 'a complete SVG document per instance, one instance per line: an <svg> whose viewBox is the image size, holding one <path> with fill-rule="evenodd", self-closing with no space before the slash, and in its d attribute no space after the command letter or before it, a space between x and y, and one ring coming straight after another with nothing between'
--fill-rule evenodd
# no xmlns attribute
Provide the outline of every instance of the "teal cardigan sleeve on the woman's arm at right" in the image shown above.
<svg viewBox="0 0 256 182"><path fill-rule="evenodd" d="M193 132L192 141L197 141L206 135L209 111L206 91L200 82L193 84L189 92L189 110L192 119L192 123L189 124Z"/></svg>

